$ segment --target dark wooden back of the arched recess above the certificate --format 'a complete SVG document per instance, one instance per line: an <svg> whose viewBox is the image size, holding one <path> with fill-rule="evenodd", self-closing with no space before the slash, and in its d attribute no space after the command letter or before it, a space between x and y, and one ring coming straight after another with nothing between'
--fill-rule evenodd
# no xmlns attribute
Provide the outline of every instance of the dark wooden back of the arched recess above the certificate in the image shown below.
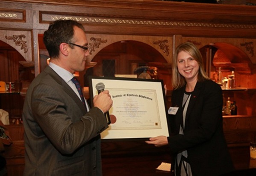
<svg viewBox="0 0 256 176"><path fill-rule="evenodd" d="M163 42L166 41L166 42ZM157 47L165 50L165 54L169 53L169 45L167 40L156 40L153 42ZM133 74L135 68L139 66L139 63L158 68L158 79L163 79L165 83L171 82L171 65L166 63L167 61L162 54L147 43L138 42L135 40L124 40L121 42L112 43L102 48L96 54L92 61L97 62L94 67L94 74L101 75L102 60L115 59L117 63L115 74ZM136 64L131 69L132 65Z"/></svg>

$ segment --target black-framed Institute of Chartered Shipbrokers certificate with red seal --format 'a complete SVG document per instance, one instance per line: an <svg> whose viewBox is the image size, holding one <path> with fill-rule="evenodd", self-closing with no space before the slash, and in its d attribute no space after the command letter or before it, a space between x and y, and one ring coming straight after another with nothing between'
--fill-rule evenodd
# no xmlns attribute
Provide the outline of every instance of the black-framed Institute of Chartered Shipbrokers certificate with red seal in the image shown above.
<svg viewBox="0 0 256 176"><path fill-rule="evenodd" d="M102 139L149 138L169 136L165 91L162 80L121 77L90 77L92 99L98 94L96 85L104 84L113 100L109 110L109 128Z"/></svg>

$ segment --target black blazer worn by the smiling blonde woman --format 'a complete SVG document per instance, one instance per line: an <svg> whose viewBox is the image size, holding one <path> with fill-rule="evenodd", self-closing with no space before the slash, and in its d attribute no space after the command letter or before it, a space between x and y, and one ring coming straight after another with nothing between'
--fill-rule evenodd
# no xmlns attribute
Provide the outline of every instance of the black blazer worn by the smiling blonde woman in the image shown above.
<svg viewBox="0 0 256 176"><path fill-rule="evenodd" d="M184 92L185 86L172 94L172 106L179 109L168 117L171 151L188 151L193 176L218 176L234 170L223 133L221 87L211 80L197 82L187 109L184 135L180 135Z"/></svg>

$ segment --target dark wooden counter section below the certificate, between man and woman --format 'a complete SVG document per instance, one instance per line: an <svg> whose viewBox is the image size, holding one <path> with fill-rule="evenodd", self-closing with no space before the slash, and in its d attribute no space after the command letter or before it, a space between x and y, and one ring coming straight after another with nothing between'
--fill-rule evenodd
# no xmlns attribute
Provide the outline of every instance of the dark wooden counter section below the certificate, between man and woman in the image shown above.
<svg viewBox="0 0 256 176"><path fill-rule="evenodd" d="M156 148L142 139L102 140L102 163L104 176L167 176L157 172L161 162L171 162L168 146Z"/></svg>

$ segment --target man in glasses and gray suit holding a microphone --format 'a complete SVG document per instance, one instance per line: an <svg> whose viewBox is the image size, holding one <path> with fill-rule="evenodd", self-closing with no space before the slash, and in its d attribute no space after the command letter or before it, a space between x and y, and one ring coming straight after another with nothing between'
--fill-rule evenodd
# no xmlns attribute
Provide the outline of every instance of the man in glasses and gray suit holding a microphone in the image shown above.
<svg viewBox="0 0 256 176"><path fill-rule="evenodd" d="M109 91L83 104L75 71L85 69L88 41L73 20L57 20L44 32L49 65L32 81L23 109L24 176L101 176L100 133L112 106Z"/></svg>

